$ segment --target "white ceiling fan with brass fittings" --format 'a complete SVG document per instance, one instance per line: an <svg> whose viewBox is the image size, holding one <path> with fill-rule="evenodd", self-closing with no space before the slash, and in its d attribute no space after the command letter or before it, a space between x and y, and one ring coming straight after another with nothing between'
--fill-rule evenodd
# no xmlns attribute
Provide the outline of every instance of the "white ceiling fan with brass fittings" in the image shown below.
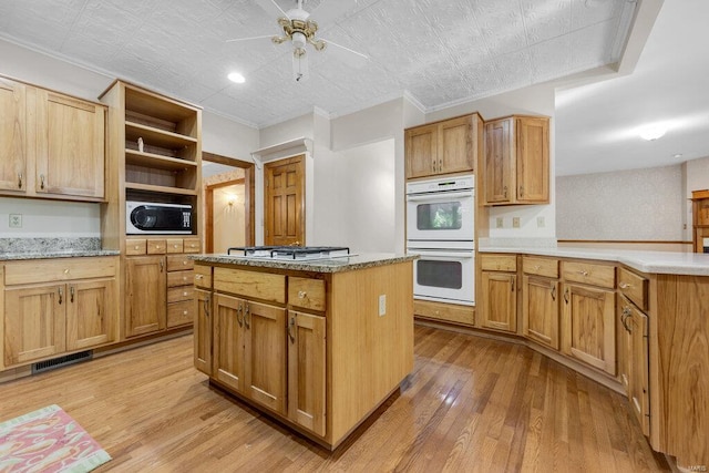
<svg viewBox="0 0 709 473"><path fill-rule="evenodd" d="M310 20L310 14L315 13L320 19L336 18L338 13L341 13L342 2L322 0L312 12L307 12L302 9L304 0L297 0L297 7L288 11L284 11L284 9L276 3L276 0L257 2L267 13L277 13L279 16L278 25L282 31L281 34L236 38L227 40L227 42L259 40L263 38L270 38L275 44L290 42L292 45L292 75L296 82L301 82L308 78L307 44L310 44L316 51L322 51L328 45L332 45L335 47L332 50L333 55L353 68L361 68L367 63L369 60L367 54L362 54L361 52L351 50L325 38L316 37L318 23ZM269 11L271 7L275 7L275 9Z"/></svg>

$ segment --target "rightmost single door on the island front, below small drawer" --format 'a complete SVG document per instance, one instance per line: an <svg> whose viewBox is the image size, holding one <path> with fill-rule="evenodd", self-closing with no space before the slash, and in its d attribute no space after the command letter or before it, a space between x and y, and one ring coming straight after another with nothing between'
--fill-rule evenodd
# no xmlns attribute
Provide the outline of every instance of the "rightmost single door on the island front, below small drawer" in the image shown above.
<svg viewBox="0 0 709 473"><path fill-rule="evenodd" d="M325 317L288 312L288 418L325 435Z"/></svg>

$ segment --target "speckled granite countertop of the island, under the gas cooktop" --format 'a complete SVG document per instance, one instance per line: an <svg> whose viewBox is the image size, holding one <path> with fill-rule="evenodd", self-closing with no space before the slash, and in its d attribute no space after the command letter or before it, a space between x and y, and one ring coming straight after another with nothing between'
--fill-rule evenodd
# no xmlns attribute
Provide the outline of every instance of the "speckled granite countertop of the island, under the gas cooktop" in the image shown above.
<svg viewBox="0 0 709 473"><path fill-rule="evenodd" d="M251 266L259 268L290 269L311 273L341 273L354 269L371 268L374 266L393 265L397 263L412 261L415 255L399 255L393 253L366 253L362 255L343 256L330 259L289 260L289 259L263 259L245 258L243 256L213 254L189 255L188 258L202 263L218 263L235 266Z"/></svg>

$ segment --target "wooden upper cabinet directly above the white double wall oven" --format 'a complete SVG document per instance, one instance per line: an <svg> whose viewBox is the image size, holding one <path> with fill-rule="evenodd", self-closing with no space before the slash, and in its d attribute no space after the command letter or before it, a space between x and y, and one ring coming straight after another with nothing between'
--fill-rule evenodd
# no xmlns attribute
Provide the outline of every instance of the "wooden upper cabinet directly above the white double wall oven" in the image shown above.
<svg viewBox="0 0 709 473"><path fill-rule="evenodd" d="M480 115L472 114L407 130L407 178L473 172L480 126Z"/></svg>

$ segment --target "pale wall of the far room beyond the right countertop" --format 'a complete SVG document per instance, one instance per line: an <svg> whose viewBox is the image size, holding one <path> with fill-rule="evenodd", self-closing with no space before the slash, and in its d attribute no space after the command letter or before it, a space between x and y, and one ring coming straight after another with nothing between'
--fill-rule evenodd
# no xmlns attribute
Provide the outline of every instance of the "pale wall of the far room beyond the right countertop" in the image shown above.
<svg viewBox="0 0 709 473"><path fill-rule="evenodd" d="M709 184L706 181L709 173L703 176L705 184ZM682 181L679 164L559 176L556 236L586 240L685 240Z"/></svg>

